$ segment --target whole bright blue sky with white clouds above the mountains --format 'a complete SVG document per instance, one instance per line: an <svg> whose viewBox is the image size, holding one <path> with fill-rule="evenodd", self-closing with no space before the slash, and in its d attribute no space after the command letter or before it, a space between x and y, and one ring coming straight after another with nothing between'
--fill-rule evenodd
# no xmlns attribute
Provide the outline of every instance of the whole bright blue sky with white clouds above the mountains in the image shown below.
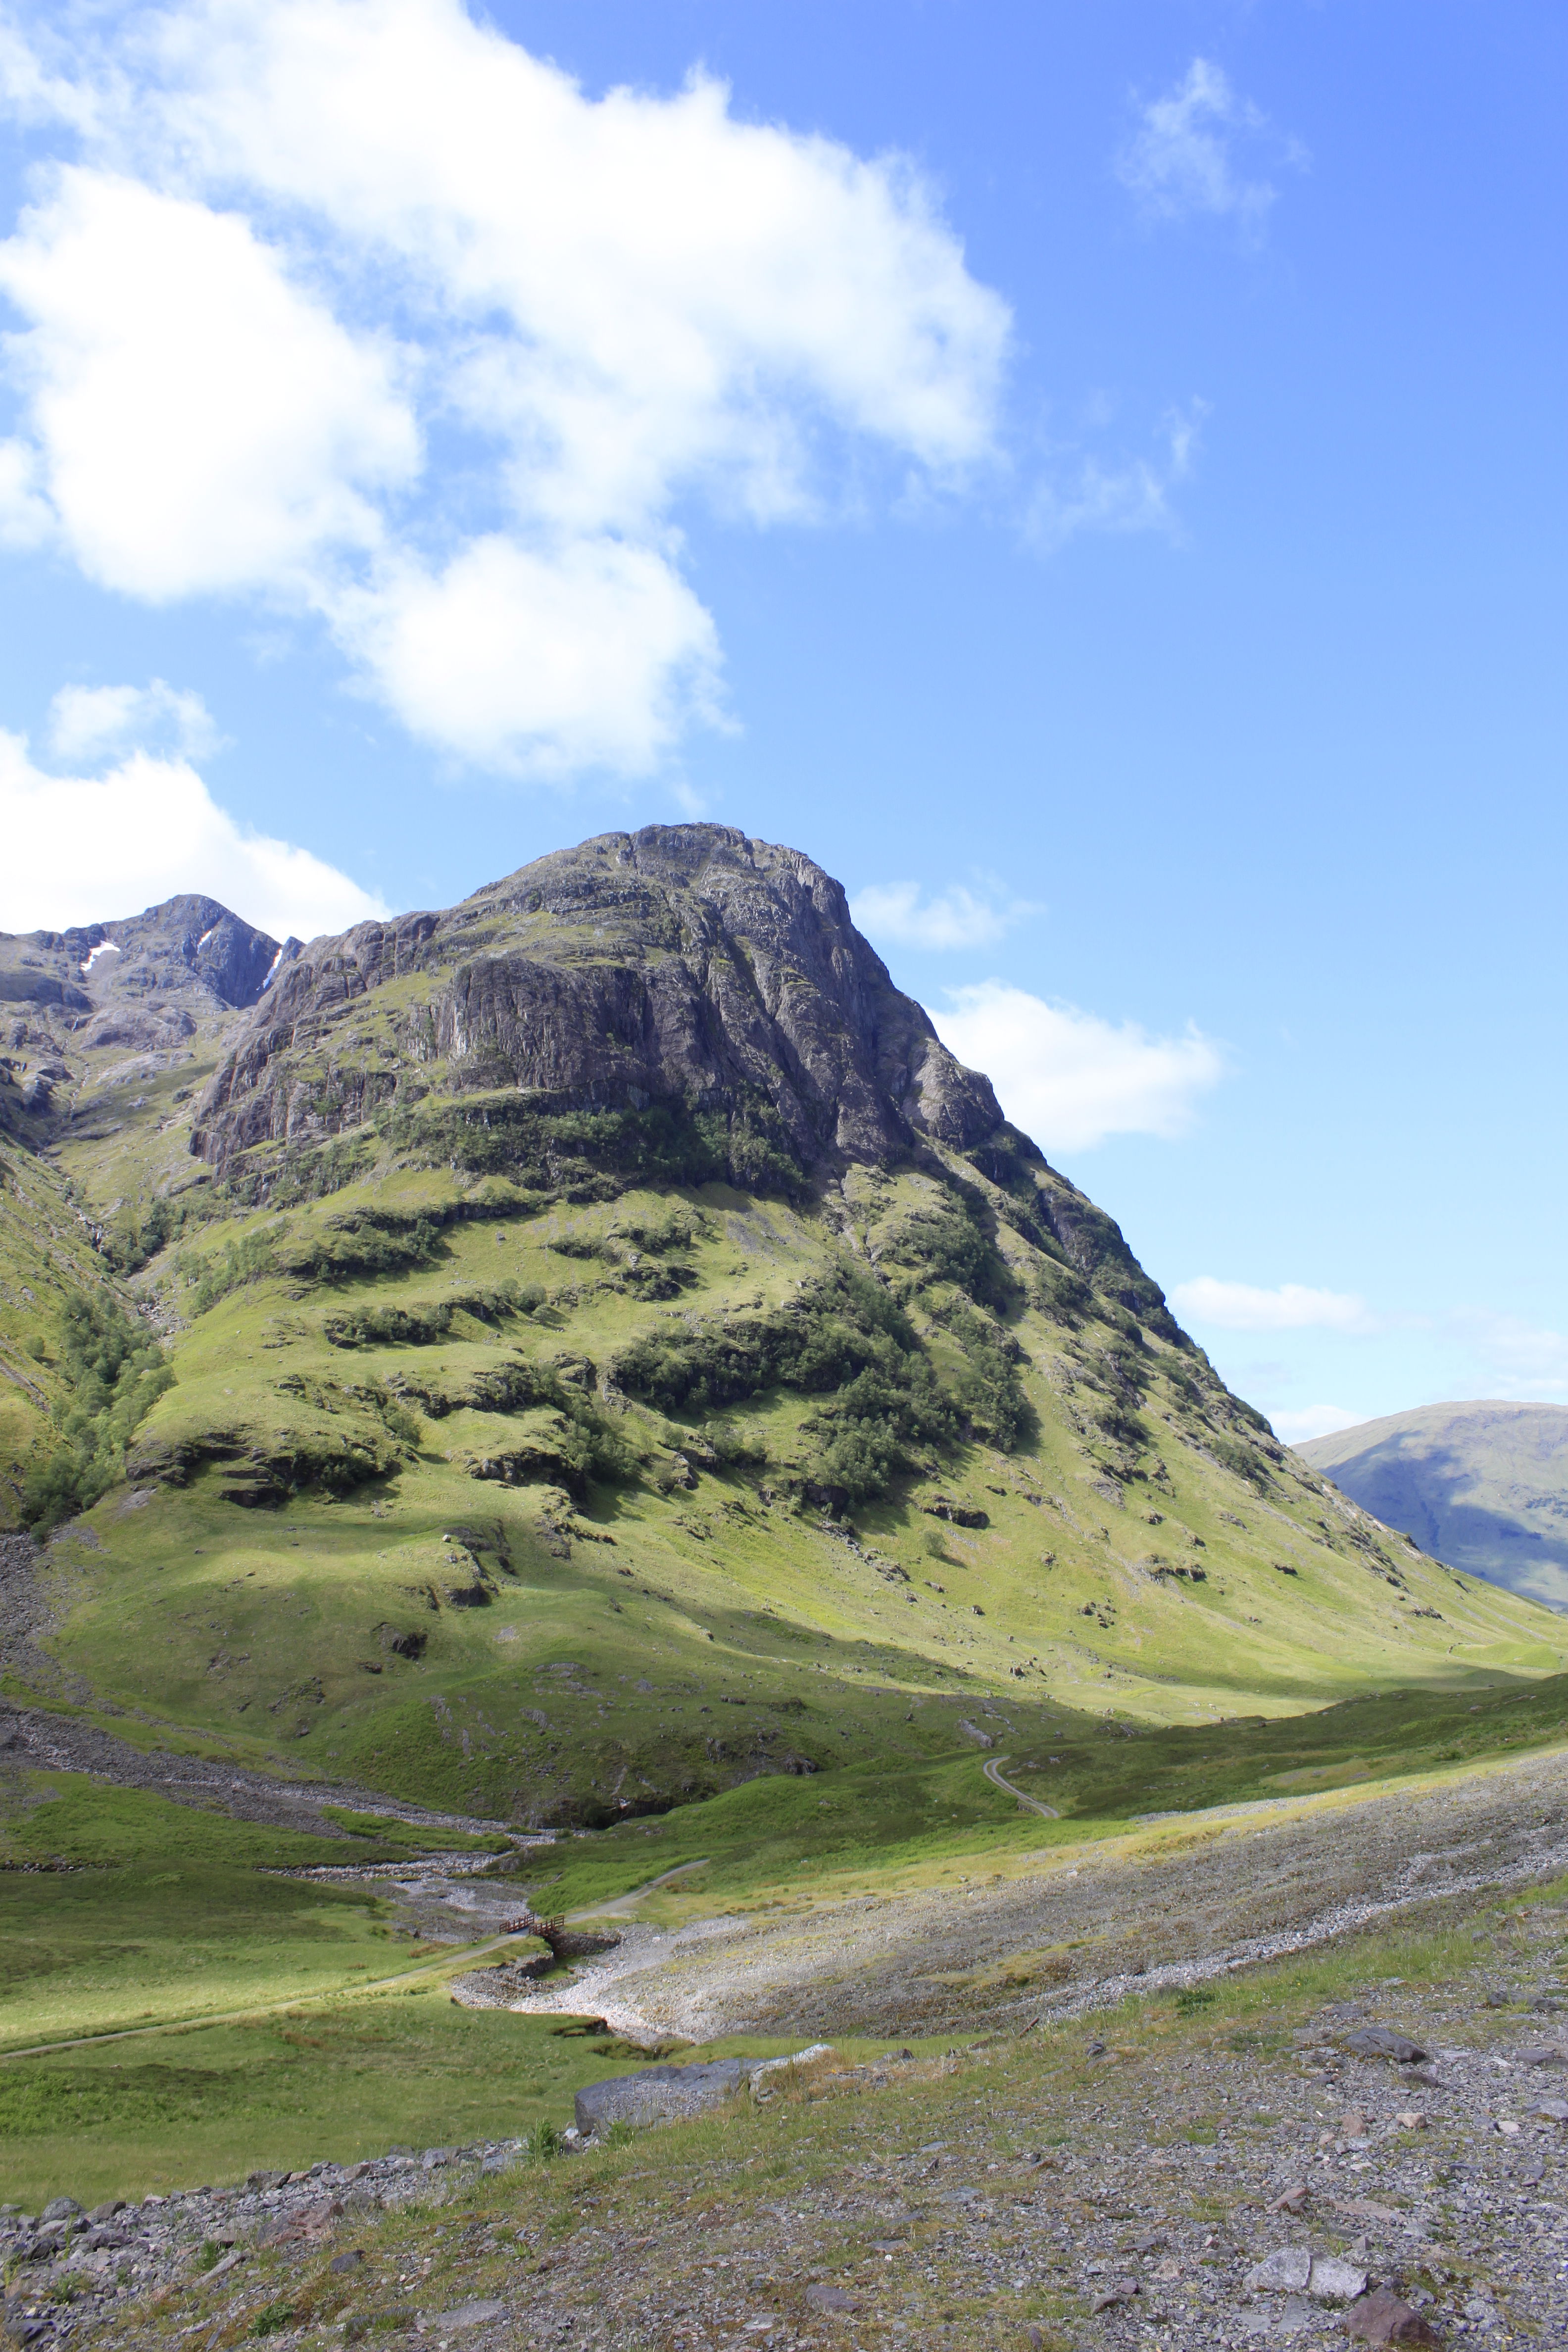
<svg viewBox="0 0 1568 2352"><path fill-rule="evenodd" d="M1568 1402L1561 12L0 28L0 924L701 811L1281 1432Z"/></svg>

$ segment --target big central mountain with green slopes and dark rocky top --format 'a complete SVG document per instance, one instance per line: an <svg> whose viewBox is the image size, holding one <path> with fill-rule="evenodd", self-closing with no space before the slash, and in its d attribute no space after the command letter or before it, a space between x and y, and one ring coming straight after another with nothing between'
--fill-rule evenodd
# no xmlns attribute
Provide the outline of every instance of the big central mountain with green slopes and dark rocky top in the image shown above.
<svg viewBox="0 0 1568 2352"><path fill-rule="evenodd" d="M223 988L209 915L143 917L136 1047L92 934L14 957L33 1686L592 1823L1563 1663L1225 1388L799 851L611 833Z"/></svg>

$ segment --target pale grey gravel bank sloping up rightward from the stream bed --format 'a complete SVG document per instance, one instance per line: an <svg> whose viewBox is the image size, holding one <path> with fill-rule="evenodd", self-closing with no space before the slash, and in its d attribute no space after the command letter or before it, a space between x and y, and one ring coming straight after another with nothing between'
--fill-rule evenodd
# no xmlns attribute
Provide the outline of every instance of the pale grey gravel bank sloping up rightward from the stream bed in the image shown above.
<svg viewBox="0 0 1568 2352"><path fill-rule="evenodd" d="M520 2006L630 2034L830 2037L1030 2025L1131 1985L1199 1983L1481 1886L1568 1870L1568 1757L1314 1797L1286 1816L1182 1816L1041 1849L1030 1877L823 1903L783 1919L632 1924Z"/></svg>

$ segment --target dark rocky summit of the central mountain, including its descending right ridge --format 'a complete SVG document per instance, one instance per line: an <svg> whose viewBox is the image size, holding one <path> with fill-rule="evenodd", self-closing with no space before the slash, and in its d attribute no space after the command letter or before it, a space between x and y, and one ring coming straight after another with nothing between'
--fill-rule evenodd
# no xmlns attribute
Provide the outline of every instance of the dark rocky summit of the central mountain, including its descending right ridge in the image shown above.
<svg viewBox="0 0 1568 2352"><path fill-rule="evenodd" d="M957 1150L1037 1240L1164 1315L1117 1225L893 985L844 887L731 826L602 833L442 915L313 941L233 1033L193 1150L219 1174L247 1155L266 1197L273 1169L378 1117L538 1174L574 1112L604 1115L599 1176L656 1136L668 1171L785 1190Z"/></svg>

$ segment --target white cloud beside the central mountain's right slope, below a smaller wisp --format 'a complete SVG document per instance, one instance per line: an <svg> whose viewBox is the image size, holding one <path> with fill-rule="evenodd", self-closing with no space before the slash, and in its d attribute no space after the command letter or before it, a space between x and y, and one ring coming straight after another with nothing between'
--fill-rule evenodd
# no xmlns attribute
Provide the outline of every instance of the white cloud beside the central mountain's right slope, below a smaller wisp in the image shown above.
<svg viewBox="0 0 1568 2352"><path fill-rule="evenodd" d="M1150 1037L1135 1021L1048 1004L1006 981L959 988L931 1018L1046 1152L1081 1152L1124 1134L1180 1136L1197 1098L1225 1075L1220 1047L1194 1028Z"/></svg>

